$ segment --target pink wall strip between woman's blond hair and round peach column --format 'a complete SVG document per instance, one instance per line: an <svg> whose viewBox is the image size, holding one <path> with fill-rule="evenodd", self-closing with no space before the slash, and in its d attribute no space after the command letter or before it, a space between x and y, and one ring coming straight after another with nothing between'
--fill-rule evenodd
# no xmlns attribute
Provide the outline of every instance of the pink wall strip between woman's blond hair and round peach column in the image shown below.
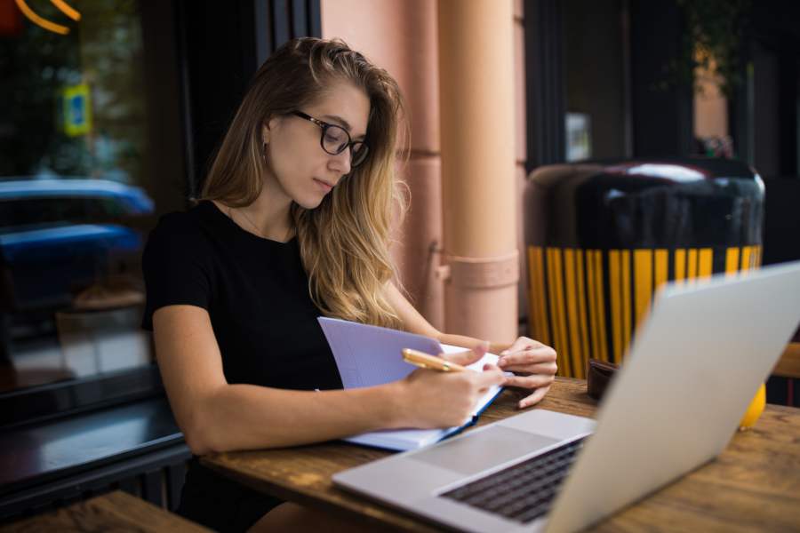
<svg viewBox="0 0 800 533"><path fill-rule="evenodd" d="M439 77L433 0L322 0L326 38L340 37L395 76L411 128L411 153L401 176L411 210L396 228L393 256L414 306L444 328L444 286L436 275L442 243Z"/></svg>

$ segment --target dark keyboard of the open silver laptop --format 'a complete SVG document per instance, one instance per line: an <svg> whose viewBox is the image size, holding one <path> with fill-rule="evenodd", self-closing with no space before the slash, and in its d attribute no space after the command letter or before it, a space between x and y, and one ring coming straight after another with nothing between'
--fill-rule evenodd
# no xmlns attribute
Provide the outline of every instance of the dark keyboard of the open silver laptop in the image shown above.
<svg viewBox="0 0 800 533"><path fill-rule="evenodd" d="M440 496L513 521L536 520L550 509L585 438L567 442Z"/></svg>

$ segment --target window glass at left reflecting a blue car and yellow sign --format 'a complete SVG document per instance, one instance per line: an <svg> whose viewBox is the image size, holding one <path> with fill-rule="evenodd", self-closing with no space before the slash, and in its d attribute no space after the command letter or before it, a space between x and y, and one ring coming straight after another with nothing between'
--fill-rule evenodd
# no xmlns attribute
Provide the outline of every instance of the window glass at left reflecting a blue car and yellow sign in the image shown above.
<svg viewBox="0 0 800 533"><path fill-rule="evenodd" d="M140 3L56 4L0 1L0 394L153 361Z"/></svg>

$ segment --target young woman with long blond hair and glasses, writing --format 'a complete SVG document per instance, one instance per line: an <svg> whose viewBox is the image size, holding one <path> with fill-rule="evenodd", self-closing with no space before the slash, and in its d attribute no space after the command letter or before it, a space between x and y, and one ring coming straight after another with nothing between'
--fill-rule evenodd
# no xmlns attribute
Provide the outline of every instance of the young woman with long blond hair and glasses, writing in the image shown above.
<svg viewBox="0 0 800 533"><path fill-rule="evenodd" d="M482 373L417 370L386 386L340 390L319 315L471 348L450 356L462 363L490 347L436 330L395 285L388 239L401 111L395 80L346 44L285 44L256 73L201 201L151 232L143 325L154 331L164 386L195 456L454 426L497 384L533 389L520 407L547 394L556 353L530 338L491 346L506 353L500 368ZM220 530L287 527L304 516L298 509L196 459L180 502L180 513Z"/></svg>

